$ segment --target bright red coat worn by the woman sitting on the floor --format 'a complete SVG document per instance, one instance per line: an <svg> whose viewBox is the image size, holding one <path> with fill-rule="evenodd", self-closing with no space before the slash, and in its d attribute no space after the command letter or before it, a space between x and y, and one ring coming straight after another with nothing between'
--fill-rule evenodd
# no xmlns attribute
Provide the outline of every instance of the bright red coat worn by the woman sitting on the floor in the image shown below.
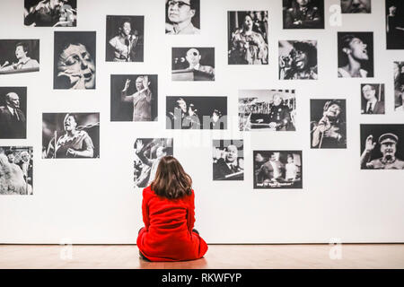
<svg viewBox="0 0 404 287"><path fill-rule="evenodd" d="M145 228L137 236L137 248L151 261L180 261L203 257L204 239L192 232L195 222L195 194L180 199L156 196L143 190L142 213Z"/></svg>

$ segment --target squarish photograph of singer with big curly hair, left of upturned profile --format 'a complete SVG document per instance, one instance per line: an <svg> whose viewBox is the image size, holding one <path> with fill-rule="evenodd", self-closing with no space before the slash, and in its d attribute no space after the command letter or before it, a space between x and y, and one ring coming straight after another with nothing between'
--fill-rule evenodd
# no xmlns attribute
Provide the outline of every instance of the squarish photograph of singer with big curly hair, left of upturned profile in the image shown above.
<svg viewBox="0 0 404 287"><path fill-rule="evenodd" d="M317 41L279 41L279 80L317 79Z"/></svg>

